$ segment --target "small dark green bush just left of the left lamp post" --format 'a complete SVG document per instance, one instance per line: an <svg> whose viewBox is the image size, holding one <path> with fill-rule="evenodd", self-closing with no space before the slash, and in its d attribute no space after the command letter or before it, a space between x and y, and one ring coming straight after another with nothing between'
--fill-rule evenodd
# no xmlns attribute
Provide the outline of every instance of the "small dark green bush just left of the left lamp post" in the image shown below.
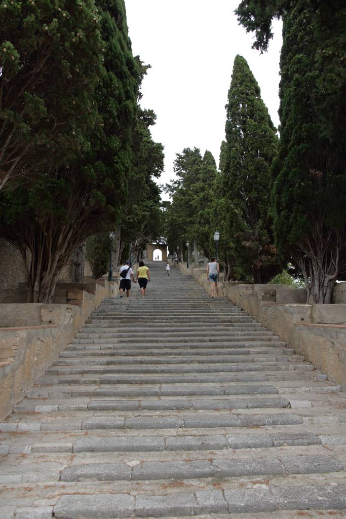
<svg viewBox="0 0 346 519"><path fill-rule="evenodd" d="M101 278L108 271L109 251L112 240L108 233L100 233L87 239L86 259L90 263L93 279Z"/></svg>

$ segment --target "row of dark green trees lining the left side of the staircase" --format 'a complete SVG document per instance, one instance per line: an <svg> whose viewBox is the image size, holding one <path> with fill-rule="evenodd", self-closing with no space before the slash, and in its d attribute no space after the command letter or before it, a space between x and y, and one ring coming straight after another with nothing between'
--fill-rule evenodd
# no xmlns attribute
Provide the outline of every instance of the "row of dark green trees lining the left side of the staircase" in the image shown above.
<svg viewBox="0 0 346 519"><path fill-rule="evenodd" d="M86 240L102 275L109 231L119 255L160 234L147 68L123 0L0 2L0 235L28 265L29 302L52 300Z"/></svg>

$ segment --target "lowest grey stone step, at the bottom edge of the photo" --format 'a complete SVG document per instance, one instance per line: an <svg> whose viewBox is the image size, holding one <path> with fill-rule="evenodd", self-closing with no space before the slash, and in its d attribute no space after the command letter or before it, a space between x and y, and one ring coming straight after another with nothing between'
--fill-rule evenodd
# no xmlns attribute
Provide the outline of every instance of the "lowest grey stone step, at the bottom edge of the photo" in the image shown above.
<svg viewBox="0 0 346 519"><path fill-rule="evenodd" d="M66 495L53 507L57 519L194 516L205 513L346 509L346 485L195 490L163 495Z"/></svg>

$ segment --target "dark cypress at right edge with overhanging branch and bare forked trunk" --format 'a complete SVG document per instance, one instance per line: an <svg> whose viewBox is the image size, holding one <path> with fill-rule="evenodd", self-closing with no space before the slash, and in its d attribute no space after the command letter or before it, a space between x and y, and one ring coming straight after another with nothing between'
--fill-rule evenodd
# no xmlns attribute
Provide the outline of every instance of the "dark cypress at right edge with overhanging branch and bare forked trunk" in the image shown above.
<svg viewBox="0 0 346 519"><path fill-rule="evenodd" d="M273 16L283 16L281 140L273 168L275 236L308 288L308 302L329 303L346 276L346 11L342 0L254 0L241 23L266 49Z"/></svg>

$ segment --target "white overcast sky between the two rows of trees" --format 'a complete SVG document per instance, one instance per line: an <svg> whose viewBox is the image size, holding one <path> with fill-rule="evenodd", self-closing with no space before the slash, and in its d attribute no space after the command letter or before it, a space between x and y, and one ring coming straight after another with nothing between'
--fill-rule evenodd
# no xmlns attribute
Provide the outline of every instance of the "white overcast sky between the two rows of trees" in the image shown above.
<svg viewBox="0 0 346 519"><path fill-rule="evenodd" d="M253 35L238 25L233 11L239 2L125 0L133 53L151 65L141 104L157 114L151 133L164 146L162 184L174 177L175 154L186 147L196 146L202 154L209 149L218 165L237 54L250 65L274 125L279 125L281 23L274 23L269 51L260 54L251 49Z"/></svg>

